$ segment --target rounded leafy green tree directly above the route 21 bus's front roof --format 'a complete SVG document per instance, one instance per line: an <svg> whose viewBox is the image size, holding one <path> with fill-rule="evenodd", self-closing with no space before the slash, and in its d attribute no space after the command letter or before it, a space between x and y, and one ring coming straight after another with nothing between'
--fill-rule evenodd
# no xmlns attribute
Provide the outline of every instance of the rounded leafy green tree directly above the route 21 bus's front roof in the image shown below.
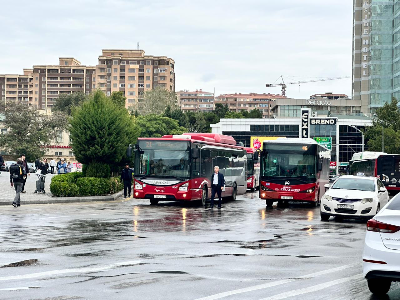
<svg viewBox="0 0 400 300"><path fill-rule="evenodd" d="M160 138L165 134L182 134L187 131L179 126L178 121L156 114L137 116L135 122L142 129L141 136L145 138Z"/></svg>

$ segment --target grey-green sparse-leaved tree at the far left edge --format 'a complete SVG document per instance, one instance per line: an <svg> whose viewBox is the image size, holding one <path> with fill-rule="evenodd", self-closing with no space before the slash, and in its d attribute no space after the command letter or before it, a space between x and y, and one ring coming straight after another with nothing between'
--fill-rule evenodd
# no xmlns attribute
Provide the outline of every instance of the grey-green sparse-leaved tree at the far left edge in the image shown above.
<svg viewBox="0 0 400 300"><path fill-rule="evenodd" d="M33 162L44 155L44 146L56 138L56 130L64 130L64 113L44 116L35 106L9 101L0 104L4 115L3 125L7 134L0 134L0 148L10 154L25 154L26 160Z"/></svg>

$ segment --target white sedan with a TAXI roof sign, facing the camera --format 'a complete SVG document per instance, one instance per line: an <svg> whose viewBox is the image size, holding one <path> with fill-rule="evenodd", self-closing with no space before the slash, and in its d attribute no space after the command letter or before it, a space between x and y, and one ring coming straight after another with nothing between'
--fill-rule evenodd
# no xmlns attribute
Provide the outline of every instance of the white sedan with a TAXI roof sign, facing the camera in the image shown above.
<svg viewBox="0 0 400 300"><path fill-rule="evenodd" d="M388 201L388 191L378 178L343 175L322 196L321 219L327 221L330 216L369 219Z"/></svg>

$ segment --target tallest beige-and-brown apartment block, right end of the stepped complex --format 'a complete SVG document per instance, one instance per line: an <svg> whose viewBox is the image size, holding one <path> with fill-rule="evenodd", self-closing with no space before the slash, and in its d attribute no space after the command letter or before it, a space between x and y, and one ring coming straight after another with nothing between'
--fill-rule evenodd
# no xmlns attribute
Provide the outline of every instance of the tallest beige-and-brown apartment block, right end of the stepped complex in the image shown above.
<svg viewBox="0 0 400 300"><path fill-rule="evenodd" d="M97 87L110 95L122 91L128 110L143 106L152 88L175 91L175 62L167 56L145 55L144 50L103 49L96 65Z"/></svg>

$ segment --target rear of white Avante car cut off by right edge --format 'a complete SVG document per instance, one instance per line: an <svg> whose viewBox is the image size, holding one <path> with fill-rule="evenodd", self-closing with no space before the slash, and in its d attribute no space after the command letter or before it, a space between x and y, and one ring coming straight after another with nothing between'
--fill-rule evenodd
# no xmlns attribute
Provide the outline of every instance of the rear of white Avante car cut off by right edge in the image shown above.
<svg viewBox="0 0 400 300"><path fill-rule="evenodd" d="M362 272L373 294L386 294L400 281L400 194L367 222Z"/></svg>

